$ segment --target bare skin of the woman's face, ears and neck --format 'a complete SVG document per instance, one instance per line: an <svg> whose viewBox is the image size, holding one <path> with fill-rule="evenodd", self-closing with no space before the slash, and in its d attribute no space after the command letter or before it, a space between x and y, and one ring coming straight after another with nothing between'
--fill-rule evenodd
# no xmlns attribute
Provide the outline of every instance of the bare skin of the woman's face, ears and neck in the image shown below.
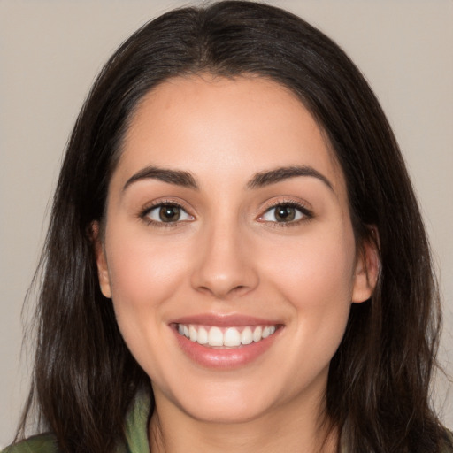
<svg viewBox="0 0 453 453"><path fill-rule="evenodd" d="M189 172L198 188L127 184L150 165ZM309 175L250 188L257 173L295 165L328 183ZM288 202L311 214L276 221L274 205ZM184 211L150 223L160 220L146 211L152 203ZM152 381L153 451L320 448L329 363L350 304L372 294L378 263L369 244L357 254L342 171L296 96L262 78L207 74L155 88L134 113L96 244L104 296ZM212 369L188 357L169 326L200 313L281 328L257 359ZM335 444L332 434L324 451Z"/></svg>

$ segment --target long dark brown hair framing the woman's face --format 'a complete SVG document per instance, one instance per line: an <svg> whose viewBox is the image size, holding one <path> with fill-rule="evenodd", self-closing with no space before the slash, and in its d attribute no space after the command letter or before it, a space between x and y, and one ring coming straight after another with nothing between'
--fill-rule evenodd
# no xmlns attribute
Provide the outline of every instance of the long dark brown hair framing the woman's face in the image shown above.
<svg viewBox="0 0 453 453"><path fill-rule="evenodd" d="M440 311L426 233L376 97L326 35L278 8L219 2L150 21L104 66L68 144L42 255L32 390L42 429L67 452L111 451L148 377L102 296L90 225L137 103L166 79L256 74L291 89L319 122L347 181L357 244L379 232L380 276L353 304L329 373L326 414L350 452L438 451L430 409ZM150 397L152 393L150 391ZM25 426L25 421L23 421Z"/></svg>

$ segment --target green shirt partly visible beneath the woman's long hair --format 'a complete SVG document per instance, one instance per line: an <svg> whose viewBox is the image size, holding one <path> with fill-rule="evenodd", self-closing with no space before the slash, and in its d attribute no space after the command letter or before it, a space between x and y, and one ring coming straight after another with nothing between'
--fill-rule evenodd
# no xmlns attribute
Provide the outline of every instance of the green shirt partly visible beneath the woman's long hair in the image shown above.
<svg viewBox="0 0 453 453"><path fill-rule="evenodd" d="M148 422L150 402L148 397L137 397L126 420L126 443L117 447L114 453L150 453ZM448 445L441 453L453 453L453 435L447 431ZM52 434L39 434L7 447L1 453L58 453L58 446ZM343 453L346 453L343 451Z"/></svg>

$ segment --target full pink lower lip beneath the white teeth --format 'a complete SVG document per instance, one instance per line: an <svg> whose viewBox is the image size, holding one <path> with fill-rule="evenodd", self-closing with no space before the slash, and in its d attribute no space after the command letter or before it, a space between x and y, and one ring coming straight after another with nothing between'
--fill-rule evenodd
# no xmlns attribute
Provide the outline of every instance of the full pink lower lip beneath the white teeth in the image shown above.
<svg viewBox="0 0 453 453"><path fill-rule="evenodd" d="M203 365L206 368L232 369L248 365L257 357L262 356L272 346L276 337L280 334L281 328L259 342L228 349L208 348L197 342L191 342L187 337L179 334L176 329L173 328L172 330L176 335L180 349L198 365Z"/></svg>

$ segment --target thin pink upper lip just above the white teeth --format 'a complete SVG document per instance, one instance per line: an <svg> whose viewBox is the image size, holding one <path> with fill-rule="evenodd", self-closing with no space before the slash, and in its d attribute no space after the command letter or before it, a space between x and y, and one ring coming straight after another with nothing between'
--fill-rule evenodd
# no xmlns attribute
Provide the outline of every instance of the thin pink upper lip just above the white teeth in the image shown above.
<svg viewBox="0 0 453 453"><path fill-rule="evenodd" d="M281 322L273 319L262 319L255 316L240 314L200 313L173 319L170 324L194 324L203 326L277 326Z"/></svg>

